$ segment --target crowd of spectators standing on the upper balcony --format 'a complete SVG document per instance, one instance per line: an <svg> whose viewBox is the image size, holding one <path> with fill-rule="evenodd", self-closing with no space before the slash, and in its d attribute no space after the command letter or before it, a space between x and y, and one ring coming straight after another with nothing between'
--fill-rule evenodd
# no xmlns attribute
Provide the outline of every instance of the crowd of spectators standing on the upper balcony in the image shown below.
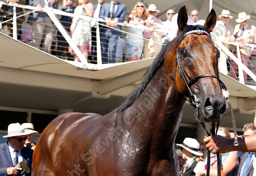
<svg viewBox="0 0 256 176"><path fill-rule="evenodd" d="M172 40L177 35L177 16L173 9L169 9L166 12L166 21L158 19L157 5L150 4L140 0L132 9L130 15L126 21L126 5L121 4L118 0L111 0L110 3L105 3L105 0L98 0L98 4L92 5L88 0L79 0L77 7L74 7L75 0L66 0L65 5L58 3L58 0L48 0L46 6L62 10L64 12L75 13L79 15L89 16L95 18L95 20L85 20L79 17L68 17L57 15L60 22L65 27L66 31L70 33L74 43L84 55L84 57L91 63L97 63L97 45L96 45L96 24L97 18L104 19L105 23L100 23L100 44L101 44L101 58L102 63L116 63L125 61L140 60L143 58L155 57L160 51L161 47ZM30 40L33 47L39 48L47 53L55 54L60 58L66 58L69 56L75 61L80 61L73 48L71 48L60 31L56 29L52 20L47 13L42 11L42 7L45 6L44 0L4 0L4 2L17 2L19 4L27 4L37 7L37 11L30 13L27 22L30 23ZM17 15L21 15L23 10L21 8L16 9ZM13 8L12 6L3 5L0 12L1 21L12 18ZM194 9L190 13L187 10L188 25L204 25L205 20L199 19L199 12ZM216 38L222 41L225 47L234 53L237 57L237 52L234 45L230 45L225 42L238 42L240 43L240 56L241 62L254 71L256 68L255 55L256 51L251 48L243 47L246 43L256 43L256 27L249 23L251 18L246 12L238 13L239 23L235 28L229 24L229 20L233 19L229 10L224 9L218 16L214 33ZM18 39L24 34L21 33L21 25L24 21L24 17L17 20L17 33ZM118 40L122 39L123 33L121 32L122 26L117 23L123 23L122 26L126 26L127 23L134 26L144 26L145 28L127 27L127 33L124 38L125 46L117 47ZM164 30L156 30L164 29ZM7 35L12 36L12 23L5 22L2 24L1 30ZM22 35L21 35L22 34ZM24 38L24 37L23 37ZM29 37L28 37L29 38ZM123 41L123 40L121 40ZM55 50L53 50L52 43L56 42ZM237 73L237 64L229 58L229 56L219 47L220 57L218 68L223 74L229 75L234 79L239 79ZM116 57L118 48L121 48L123 54L122 57ZM121 58L121 59L120 59ZM244 72L245 84L254 84L254 82L248 78L248 75Z"/></svg>

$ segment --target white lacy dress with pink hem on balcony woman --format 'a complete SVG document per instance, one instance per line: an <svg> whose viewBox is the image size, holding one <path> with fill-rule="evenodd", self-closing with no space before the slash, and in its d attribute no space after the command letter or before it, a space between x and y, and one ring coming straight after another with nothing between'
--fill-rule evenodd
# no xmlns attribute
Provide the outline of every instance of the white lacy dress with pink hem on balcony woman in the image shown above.
<svg viewBox="0 0 256 176"><path fill-rule="evenodd" d="M87 16L84 5L77 6L74 14ZM91 22L89 20L74 17L71 38L82 53L87 51L91 53ZM75 54L72 49L71 54Z"/></svg>

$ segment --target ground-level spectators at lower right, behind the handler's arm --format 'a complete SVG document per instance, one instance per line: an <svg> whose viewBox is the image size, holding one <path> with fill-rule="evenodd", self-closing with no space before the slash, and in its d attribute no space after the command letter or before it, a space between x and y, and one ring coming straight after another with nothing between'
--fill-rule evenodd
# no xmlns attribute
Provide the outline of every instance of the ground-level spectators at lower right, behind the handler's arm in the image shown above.
<svg viewBox="0 0 256 176"><path fill-rule="evenodd" d="M242 135L256 134L255 124L244 124ZM225 138L233 138L224 127L219 127L216 135ZM197 142L192 138L185 138L182 144L176 144L176 153L180 165L180 176L205 176L207 170L206 146L203 141ZM180 158L179 158L180 157ZM183 160L181 160L181 158ZM224 176L253 176L256 174L256 158L253 152L230 151L221 153L221 161ZM183 165L183 166L182 166ZM217 155L210 153L210 176L217 176Z"/></svg>

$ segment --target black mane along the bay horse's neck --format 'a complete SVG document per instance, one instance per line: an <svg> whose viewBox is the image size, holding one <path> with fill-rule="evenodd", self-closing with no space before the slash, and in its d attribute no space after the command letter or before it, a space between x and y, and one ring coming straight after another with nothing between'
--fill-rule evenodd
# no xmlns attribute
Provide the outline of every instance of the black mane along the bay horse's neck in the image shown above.
<svg viewBox="0 0 256 176"><path fill-rule="evenodd" d="M158 70L158 68L162 65L162 62L165 58L165 54L168 53L168 51L170 49L175 49L178 46L178 44L181 42L181 40L183 39L183 36L191 30L204 30L204 31L208 32L208 30L202 25L196 25L196 26L187 25L183 31L181 31L180 33L177 34L176 38L174 38L172 41L170 41L165 46L163 46L161 51L156 56L155 60L152 62L151 66L148 68L148 70L143 75L144 78L142 79L140 84L138 84L133 89L133 91L131 91L130 94L126 95L126 97L123 98L123 102L116 109L117 113L121 113L125 109L129 108L130 105L133 104L134 100L136 98L140 97L141 93L144 91L144 89L148 85L148 82L150 81L150 79L153 77L153 75Z"/></svg>

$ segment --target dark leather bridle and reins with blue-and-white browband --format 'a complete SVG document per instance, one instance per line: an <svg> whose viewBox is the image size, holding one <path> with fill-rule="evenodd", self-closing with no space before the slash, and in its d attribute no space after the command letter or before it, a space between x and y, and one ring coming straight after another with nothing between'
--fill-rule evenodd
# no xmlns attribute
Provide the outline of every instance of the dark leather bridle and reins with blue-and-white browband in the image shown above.
<svg viewBox="0 0 256 176"><path fill-rule="evenodd" d="M202 32L202 33L198 33L198 32ZM196 35L208 35L210 38L211 36L208 34L208 32L204 31L204 30L192 30L192 31L189 31L187 32L183 38L188 35L188 34L196 34ZM183 40L183 38L180 40L180 42ZM212 40L212 38L211 38ZM213 43L213 41L212 41ZM182 75L182 78L187 86L187 89L188 89L188 99L184 98L183 95L180 94L180 92L177 90L177 87L176 87L176 76L174 76L174 85L175 85L175 89L176 91L178 92L178 94L184 98L185 100L189 101L190 104L192 106L194 106L195 108L195 117L197 119L197 116L196 116L196 112L199 111L198 108L200 107L201 103L199 102L199 99L197 98L197 96L195 94L192 93L190 87L191 85L193 85L195 82L197 82L197 80L201 79L201 78L206 78L206 77L212 77L212 78L215 78L219 81L219 84L220 84L220 87L222 89L224 89L225 91L227 91L227 88L225 86L225 84L219 79L219 76L216 77L215 75L213 74L203 74L203 75L199 75L199 76L196 76L192 79L189 79L187 77L187 75L185 74L184 70L183 70L183 67L182 67L182 64L181 64L181 60L180 60L180 49L178 48L178 45L180 43L177 44L177 47L176 47L176 59L175 59L175 69L177 68L177 65L178 65L178 68L179 68L179 75L181 74ZM176 74L176 72L175 72ZM226 101L229 105L229 109L230 109L230 113L231 113L231 117L232 117L232 123L233 123L233 129L234 129L234 137L235 137L235 142L234 142L234 145L237 146L238 145L238 139L237 139L237 134L236 134L236 123L235 123L235 117L234 117L234 113L233 113L233 109L231 107L231 104L229 102L229 99L226 98ZM198 112L199 113L199 112ZM211 136L211 134L208 132L208 130L206 129L206 126L205 126L205 123L204 121L202 120L199 120L197 119L201 125L203 126L203 128L206 130L208 136ZM212 123L212 135L215 135L217 134L218 132L218 128L219 128L219 123L220 123L220 120L218 121L217 123L217 127L216 127L216 132L215 132L215 122ZM209 149L207 148L207 153L208 153L208 156L207 156L207 176L210 175L210 152L209 152ZM218 168L218 176L222 176L223 175L223 166L222 166L222 162L221 162L221 154L220 153L217 153L217 168Z"/></svg>

